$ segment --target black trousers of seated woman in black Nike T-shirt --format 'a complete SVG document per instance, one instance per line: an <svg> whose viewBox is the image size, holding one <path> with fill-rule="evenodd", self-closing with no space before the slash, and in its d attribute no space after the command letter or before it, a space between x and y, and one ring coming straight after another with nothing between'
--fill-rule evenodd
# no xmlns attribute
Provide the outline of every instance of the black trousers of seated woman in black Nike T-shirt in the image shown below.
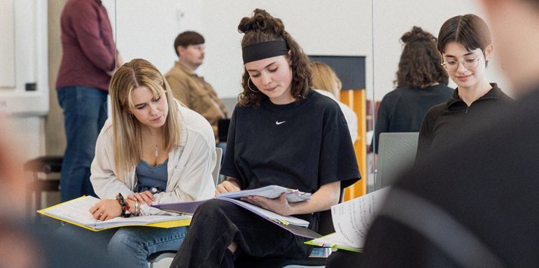
<svg viewBox="0 0 539 268"><path fill-rule="evenodd" d="M232 241L238 244L234 255L228 250ZM304 259L311 251L304 241L236 204L209 200L195 212L170 267L234 267L242 255Z"/></svg>

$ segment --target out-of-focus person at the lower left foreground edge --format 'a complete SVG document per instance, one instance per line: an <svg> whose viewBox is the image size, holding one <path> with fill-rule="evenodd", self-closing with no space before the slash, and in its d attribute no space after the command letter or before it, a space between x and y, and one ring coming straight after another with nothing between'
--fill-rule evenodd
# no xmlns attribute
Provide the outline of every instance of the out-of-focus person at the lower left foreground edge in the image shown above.
<svg viewBox="0 0 539 268"><path fill-rule="evenodd" d="M46 225L25 218L31 209L25 208L25 190L30 190L23 171L27 152L15 138L20 135L7 127L13 126L10 120L0 115L0 187L5 200L0 203L0 267L111 267L106 255L76 237L56 237Z"/></svg>

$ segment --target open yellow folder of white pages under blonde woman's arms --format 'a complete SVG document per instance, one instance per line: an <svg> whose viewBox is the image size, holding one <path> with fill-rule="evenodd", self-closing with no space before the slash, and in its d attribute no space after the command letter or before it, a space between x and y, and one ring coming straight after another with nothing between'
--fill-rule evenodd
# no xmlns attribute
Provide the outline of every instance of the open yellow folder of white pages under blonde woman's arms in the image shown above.
<svg viewBox="0 0 539 268"><path fill-rule="evenodd" d="M122 226L148 226L158 228L172 228L186 226L190 223L190 216L169 216L169 215L151 215L151 216L131 216L129 218L116 217L106 221L96 220L90 214L90 207L99 198L93 196L83 196L60 204L56 204L46 209L38 210L39 214L55 218L66 223L78 225L92 231L100 231L109 228Z"/></svg>

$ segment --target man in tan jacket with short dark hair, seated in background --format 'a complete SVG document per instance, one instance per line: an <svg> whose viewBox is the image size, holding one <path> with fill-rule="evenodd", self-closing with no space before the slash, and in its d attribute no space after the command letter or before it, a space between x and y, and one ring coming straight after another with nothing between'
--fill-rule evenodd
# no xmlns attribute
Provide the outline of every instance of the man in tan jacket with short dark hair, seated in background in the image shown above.
<svg viewBox="0 0 539 268"><path fill-rule="evenodd" d="M209 121L218 143L217 122L227 118L227 111L211 84L195 74L204 61L204 37L195 31L184 31L174 40L174 50L179 60L165 75L172 94Z"/></svg>

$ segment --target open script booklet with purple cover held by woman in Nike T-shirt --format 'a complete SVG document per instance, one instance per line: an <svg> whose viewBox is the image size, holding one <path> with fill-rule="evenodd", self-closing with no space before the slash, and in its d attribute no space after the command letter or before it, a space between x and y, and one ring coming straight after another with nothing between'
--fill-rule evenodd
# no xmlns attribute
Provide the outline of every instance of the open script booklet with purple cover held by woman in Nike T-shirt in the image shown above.
<svg viewBox="0 0 539 268"><path fill-rule="evenodd" d="M258 207L249 202L244 202L244 201L239 200L240 198L246 198L252 195L258 195L265 198L274 199L274 198L279 198L279 195L281 195L281 193L286 193L286 199L288 200L288 202L301 202L304 200L311 199L310 193L303 193L301 191L297 191L294 189L285 188L281 186L276 186L276 185L265 186L262 188L257 188L257 189L252 189L252 190L222 193L220 195L217 195L216 199L225 200L225 201L237 204L239 207L243 207L244 209L247 209L248 211L251 211L256 215L262 218L265 218L268 221L271 221L272 223L279 225L279 227L284 228L288 230L289 232L292 232L293 234L296 234L300 237L307 237L311 239L316 238L316 237L321 237L320 234L307 228L309 226L308 221L304 221L300 218L296 218L293 216L281 216L267 209L262 209L262 207ZM199 200L199 201L193 201L193 202L153 204L152 206L158 209L169 211L169 212L182 213L182 214L194 214L197 208L206 201L207 200Z"/></svg>

